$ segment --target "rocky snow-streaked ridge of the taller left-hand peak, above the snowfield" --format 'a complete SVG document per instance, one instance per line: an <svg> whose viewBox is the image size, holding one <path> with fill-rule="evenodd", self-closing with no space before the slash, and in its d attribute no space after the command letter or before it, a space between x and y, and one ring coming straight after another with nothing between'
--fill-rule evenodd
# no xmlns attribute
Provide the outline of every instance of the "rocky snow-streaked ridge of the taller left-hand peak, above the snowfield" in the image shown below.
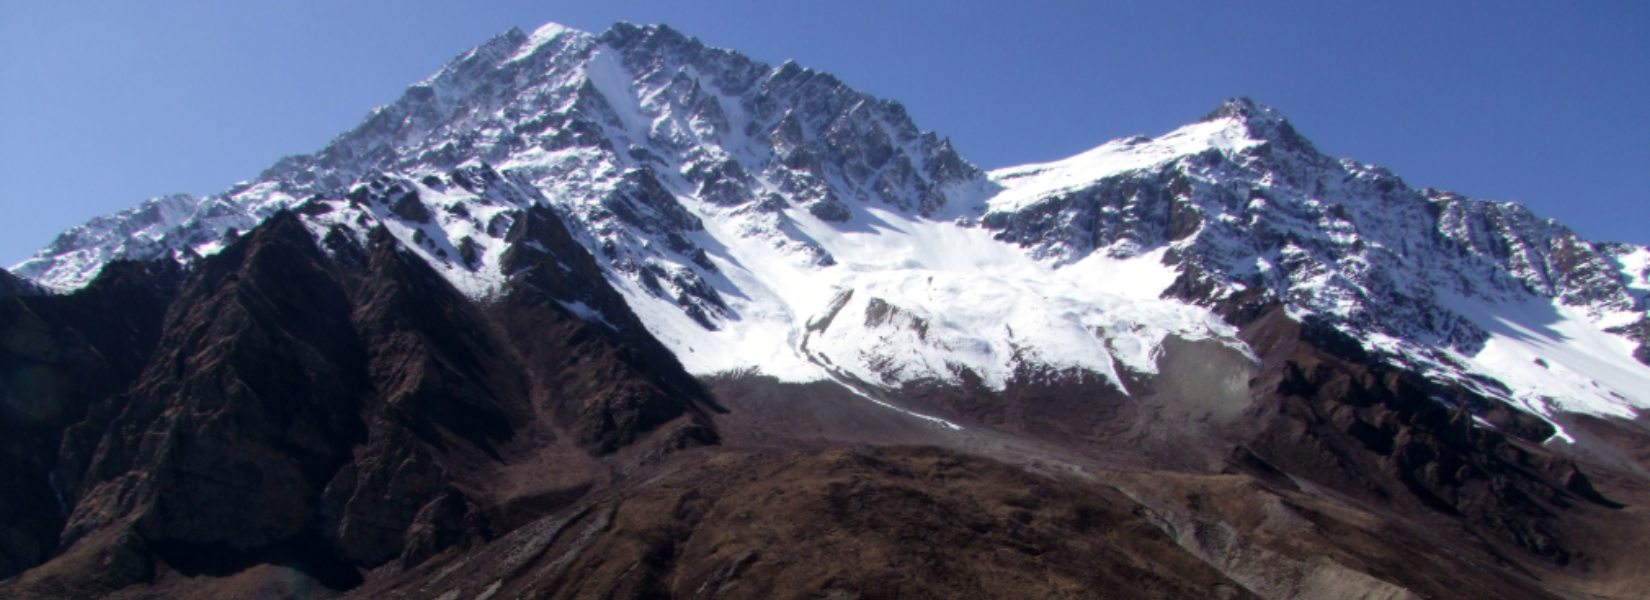
<svg viewBox="0 0 1650 600"><path fill-rule="evenodd" d="M978 176L899 104L828 74L771 68L665 26L592 36L551 25L455 58L315 155L284 158L223 195L165 196L94 219L18 270L73 288L109 257L211 252L226 229L348 198L383 204L444 270L485 274L503 252L490 244L503 227L495 214L457 214L454 204L470 209L462 191L485 196L503 181L516 193L488 199L558 206L609 272L714 326L726 307L705 282L714 265L693 241L703 224L681 206L683 191L752 213L752 227L774 232L789 206L843 221L846 199L874 198L932 214L947 204L945 185ZM465 201L436 199L447 190ZM409 193L417 201L404 201ZM419 206L437 203L441 214ZM805 239L787 244L830 264Z"/></svg>

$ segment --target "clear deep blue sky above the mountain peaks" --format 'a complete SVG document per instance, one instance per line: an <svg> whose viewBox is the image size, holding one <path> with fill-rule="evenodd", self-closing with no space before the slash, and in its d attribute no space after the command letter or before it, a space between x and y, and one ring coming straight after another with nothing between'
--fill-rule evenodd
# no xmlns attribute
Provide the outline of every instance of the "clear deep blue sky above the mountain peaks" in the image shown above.
<svg viewBox="0 0 1650 600"><path fill-rule="evenodd" d="M0 0L0 264L318 150L510 26L668 23L898 99L987 168L1251 96L1414 186L1650 244L1650 2Z"/></svg>

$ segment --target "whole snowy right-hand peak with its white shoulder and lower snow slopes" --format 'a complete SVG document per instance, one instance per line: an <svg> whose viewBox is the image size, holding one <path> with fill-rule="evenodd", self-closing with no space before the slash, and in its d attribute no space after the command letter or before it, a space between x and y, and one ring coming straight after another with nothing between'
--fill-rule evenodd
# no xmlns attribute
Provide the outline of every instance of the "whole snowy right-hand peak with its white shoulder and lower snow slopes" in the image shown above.
<svg viewBox="0 0 1650 600"><path fill-rule="evenodd" d="M1650 405L1650 251L1594 244L1513 203L1412 190L1231 101L1158 138L990 173L982 218L1051 264L1167 252L1173 295L1262 292L1376 356L1531 412ZM1642 348L1638 351L1643 354Z"/></svg>

